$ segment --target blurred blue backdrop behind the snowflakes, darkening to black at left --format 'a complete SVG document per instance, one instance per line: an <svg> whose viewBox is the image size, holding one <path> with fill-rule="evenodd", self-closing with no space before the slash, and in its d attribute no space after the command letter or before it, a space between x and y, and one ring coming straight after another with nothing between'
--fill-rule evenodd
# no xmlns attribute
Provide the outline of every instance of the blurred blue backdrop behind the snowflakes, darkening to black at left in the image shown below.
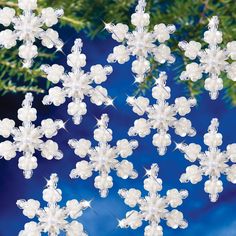
<svg viewBox="0 0 236 236"><path fill-rule="evenodd" d="M66 33L65 33L66 32ZM63 36L64 35L64 36ZM81 37L84 41L83 52L87 55L86 71L94 64L106 65L106 57L112 51L115 43L108 39L89 40L84 34L77 34L72 29L66 29L62 39L66 41L64 53L67 55L73 45L76 37ZM69 36L69 39L68 39ZM55 61L58 64L66 66L66 56L58 54ZM178 60L176 63L179 63ZM11 161L0 161L0 236L15 236L23 229L24 224L28 221L23 216L22 211L17 208L16 201L18 199L37 199L40 200L42 206L42 190L46 184L45 178L49 178L51 173L59 175L59 188L63 191L63 201L60 203L64 206L65 202L70 199L86 199L92 200L92 208L87 209L84 215L79 218L79 221L84 224L85 230L90 236L141 236L143 235L143 224L138 230L117 228L117 219L125 217L125 213L130 210L124 204L117 192L120 188L137 188L143 191L143 196L147 193L143 190L144 168L149 168L152 163L158 163L160 167L159 177L163 180L163 191L165 194L168 189L178 188L187 189L189 197L184 201L184 204L179 209L184 213L185 218L189 222L189 227L185 230L172 230L162 221L161 225L164 228L165 236L235 236L236 235L236 186L228 183L225 177L222 177L224 182L224 191L220 194L217 203L211 203L203 190L204 181L197 185L181 184L179 182L180 175L185 171L185 168L190 165L181 153L174 151L174 142L168 148L168 152L164 157L157 154L152 145L152 135L146 138L139 138L139 147L135 150L132 157L129 158L133 162L135 169L139 173L139 177L135 180L122 180L117 178L115 173L111 175L114 178L114 187L110 190L107 198L100 198L97 189L94 188L93 182L96 172L93 177L86 181L80 179L71 180L69 173L75 167L79 157L75 156L67 144L71 138L86 138L96 143L93 140L93 130L96 125L95 117L99 118L101 114L108 113L110 116L110 128L113 129L113 141L122 138L129 138L127 131L133 125L135 119L138 118L126 104L127 95L132 95L136 87L133 84L133 75L131 74L131 62L124 65L113 64L114 72L109 76L108 81L103 84L108 89L111 97L115 99L115 107L96 107L86 99L88 113L84 116L80 126L75 126L71 117L67 115L67 104L60 107L43 106L41 104L42 96L35 96L34 107L38 110L38 123L45 118L63 119L68 121L65 130L61 130L57 137L54 138L59 143L60 149L64 153L64 158L61 161L47 161L37 155L38 168L34 171L33 177L30 180L25 180L22 171L17 167L18 157ZM164 67L169 78L168 85L172 89L172 98L170 102L178 96L186 95L183 84L176 84L174 77L175 72L171 71L172 67ZM43 80L43 79L42 79ZM150 91L146 94L150 97ZM23 95L6 95L0 98L0 118L11 118L17 120L17 109L21 106ZM186 143L196 142L202 145L202 137L206 133L208 125L212 118L217 117L220 121L220 132L223 134L222 150L227 144L236 142L235 131L235 109L229 107L223 101L223 92L217 101L211 101L208 93L205 91L198 98L198 106L193 108L192 112L187 115L191 119L193 126L197 130L197 135L193 138L181 139L176 136L171 130L172 140L176 142L185 141ZM20 123L17 121L17 125ZM38 153L37 153L38 154ZM64 234L61 234L64 235Z"/></svg>

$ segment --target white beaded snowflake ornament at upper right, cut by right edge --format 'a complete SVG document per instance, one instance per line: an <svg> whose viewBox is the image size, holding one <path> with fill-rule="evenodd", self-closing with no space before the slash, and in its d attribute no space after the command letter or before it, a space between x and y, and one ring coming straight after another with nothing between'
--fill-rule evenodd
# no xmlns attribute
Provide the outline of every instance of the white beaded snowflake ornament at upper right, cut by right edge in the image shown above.
<svg viewBox="0 0 236 236"><path fill-rule="evenodd" d="M196 82L206 74L205 89L213 100L217 99L219 91L223 89L223 80L220 77L223 72L227 73L229 79L236 81L236 62L229 62L236 60L236 41L229 42L222 49L219 44L223 42L223 35L218 30L218 25L218 17L213 16L209 21L209 29L204 33L203 40L208 44L205 49L201 49L202 45L195 41L179 43L180 48L185 51L184 55L196 61L186 66L180 79Z"/></svg>

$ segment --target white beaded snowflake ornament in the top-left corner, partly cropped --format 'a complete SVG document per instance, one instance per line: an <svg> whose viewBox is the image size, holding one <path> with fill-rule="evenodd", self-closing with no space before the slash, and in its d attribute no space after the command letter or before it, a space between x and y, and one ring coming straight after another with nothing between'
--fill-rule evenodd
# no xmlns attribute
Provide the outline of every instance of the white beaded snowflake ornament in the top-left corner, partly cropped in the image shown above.
<svg viewBox="0 0 236 236"><path fill-rule="evenodd" d="M51 27L57 24L63 10L48 7L42 9L40 15L36 15L34 11L37 9L37 0L18 0L18 7L23 11L19 16L13 8L0 9L0 24L4 27L12 26L12 29L0 32L0 46L10 49L16 46L17 41L22 41L19 57L23 59L24 67L31 67L33 58L38 55L35 45L37 39L44 47L56 47L58 50L62 48L63 42Z"/></svg>

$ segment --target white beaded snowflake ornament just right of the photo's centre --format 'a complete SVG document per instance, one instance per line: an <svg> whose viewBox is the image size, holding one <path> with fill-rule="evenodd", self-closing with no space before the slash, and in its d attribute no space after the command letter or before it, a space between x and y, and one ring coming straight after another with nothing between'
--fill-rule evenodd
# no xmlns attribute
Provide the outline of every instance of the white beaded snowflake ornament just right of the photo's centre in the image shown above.
<svg viewBox="0 0 236 236"><path fill-rule="evenodd" d="M152 97L156 99L156 103L153 105L150 104L148 98L142 96L127 98L127 103L133 107L134 113L139 116L147 115L147 118L137 119L128 134L145 137L150 134L151 129L156 130L157 133L153 136L153 145L157 147L159 155L164 155L167 147L171 144L171 137L168 134L169 128L173 128L175 133L181 137L196 134L191 121L182 117L190 113L191 107L196 105L196 100L179 97L175 99L175 104L170 105L166 100L170 98L171 90L166 86L166 80L166 73L161 72L152 88ZM181 118L176 118L177 115Z"/></svg>

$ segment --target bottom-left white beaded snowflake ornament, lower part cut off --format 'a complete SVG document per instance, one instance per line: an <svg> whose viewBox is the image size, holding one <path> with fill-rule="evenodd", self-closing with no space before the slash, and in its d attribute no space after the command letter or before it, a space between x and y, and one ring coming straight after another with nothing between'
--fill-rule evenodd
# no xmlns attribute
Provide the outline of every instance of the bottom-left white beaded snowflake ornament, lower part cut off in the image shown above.
<svg viewBox="0 0 236 236"><path fill-rule="evenodd" d="M34 199L17 201L17 206L23 210L26 217L38 218L38 222L26 223L19 236L40 236L41 233L57 236L62 232L65 232L66 236L87 236L83 225L76 219L90 207L90 202L85 200L79 202L73 199L66 202L66 207L60 208L58 203L62 200L62 191L57 188L57 183L57 174L52 174L43 190L43 200L47 203L44 208L40 208L40 202ZM68 218L71 218L72 221L69 222Z"/></svg>

